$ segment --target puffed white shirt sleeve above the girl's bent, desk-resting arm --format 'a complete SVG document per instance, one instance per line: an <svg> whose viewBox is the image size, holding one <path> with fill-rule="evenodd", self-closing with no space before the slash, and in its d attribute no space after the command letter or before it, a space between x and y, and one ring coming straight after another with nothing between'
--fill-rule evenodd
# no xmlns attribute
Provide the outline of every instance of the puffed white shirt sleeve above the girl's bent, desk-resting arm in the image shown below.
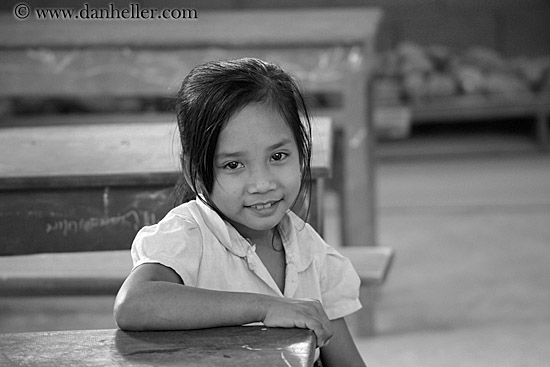
<svg viewBox="0 0 550 367"><path fill-rule="evenodd" d="M168 213L159 223L137 233L131 250L134 269L145 263L161 264L174 270L184 284L195 286L202 242L194 220Z"/></svg>

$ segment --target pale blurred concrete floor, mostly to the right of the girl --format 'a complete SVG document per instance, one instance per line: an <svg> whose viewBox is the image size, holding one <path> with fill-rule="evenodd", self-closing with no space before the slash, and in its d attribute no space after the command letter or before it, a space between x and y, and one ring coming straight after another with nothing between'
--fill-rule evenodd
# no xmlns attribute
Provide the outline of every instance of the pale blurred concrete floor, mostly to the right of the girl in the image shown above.
<svg viewBox="0 0 550 367"><path fill-rule="evenodd" d="M550 154L391 160L379 243L397 251L369 366L550 361ZM330 209L330 208L329 208ZM113 328L112 298L0 302L0 332Z"/></svg>

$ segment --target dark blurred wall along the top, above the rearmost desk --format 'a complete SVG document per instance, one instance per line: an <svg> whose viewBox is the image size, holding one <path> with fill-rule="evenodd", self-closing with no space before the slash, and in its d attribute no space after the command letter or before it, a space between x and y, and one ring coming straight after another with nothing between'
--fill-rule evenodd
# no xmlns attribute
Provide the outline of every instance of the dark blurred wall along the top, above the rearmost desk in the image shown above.
<svg viewBox="0 0 550 367"><path fill-rule="evenodd" d="M21 1L32 7L90 7L114 3L122 8L139 3L155 8L275 9L376 6L385 21L378 38L379 50L401 41L453 48L479 45L505 56L541 56L550 53L550 1L548 0L7 0L0 11L11 12ZM200 13L199 13L200 17Z"/></svg>

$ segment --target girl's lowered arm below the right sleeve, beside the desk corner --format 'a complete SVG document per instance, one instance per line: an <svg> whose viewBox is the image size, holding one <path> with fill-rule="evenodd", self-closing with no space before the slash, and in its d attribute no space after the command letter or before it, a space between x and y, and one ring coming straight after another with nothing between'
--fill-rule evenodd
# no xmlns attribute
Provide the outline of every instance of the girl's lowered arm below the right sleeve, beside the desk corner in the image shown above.
<svg viewBox="0 0 550 367"><path fill-rule="evenodd" d="M323 367L366 367L343 318L332 320L330 343L321 348Z"/></svg>

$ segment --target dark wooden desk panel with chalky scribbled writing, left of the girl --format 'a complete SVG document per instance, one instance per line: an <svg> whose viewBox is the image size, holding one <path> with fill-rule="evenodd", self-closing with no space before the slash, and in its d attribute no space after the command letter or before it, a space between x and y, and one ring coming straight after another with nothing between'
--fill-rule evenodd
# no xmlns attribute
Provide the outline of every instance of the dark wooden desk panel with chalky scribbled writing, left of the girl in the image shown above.
<svg viewBox="0 0 550 367"><path fill-rule="evenodd" d="M175 203L173 185L0 191L0 255L129 249Z"/></svg>

